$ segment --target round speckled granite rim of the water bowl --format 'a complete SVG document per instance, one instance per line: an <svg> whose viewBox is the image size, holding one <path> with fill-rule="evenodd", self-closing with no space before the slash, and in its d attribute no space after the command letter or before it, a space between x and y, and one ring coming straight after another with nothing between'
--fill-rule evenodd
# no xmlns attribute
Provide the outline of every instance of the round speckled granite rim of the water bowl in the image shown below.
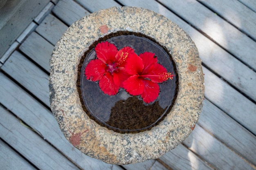
<svg viewBox="0 0 256 170"><path fill-rule="evenodd" d="M176 64L179 91L175 104L151 130L113 132L90 119L82 108L76 88L81 56L92 42L117 31L150 36L168 49ZM113 7L74 22L50 59L50 103L63 134L84 154L112 164L156 159L186 139L202 110L203 82L199 53L189 35L163 15L137 7Z"/></svg>

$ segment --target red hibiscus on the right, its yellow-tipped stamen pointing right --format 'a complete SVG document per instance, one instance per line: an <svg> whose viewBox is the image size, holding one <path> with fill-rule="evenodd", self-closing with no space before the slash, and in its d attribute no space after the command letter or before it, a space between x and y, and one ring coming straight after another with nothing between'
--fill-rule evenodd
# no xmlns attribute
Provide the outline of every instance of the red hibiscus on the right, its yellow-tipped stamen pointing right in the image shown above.
<svg viewBox="0 0 256 170"><path fill-rule="evenodd" d="M157 99L160 88L158 83L173 79L172 73L157 63L154 53L145 52L132 55L126 60L125 69L131 76L123 83L124 88L131 95L141 95L146 103Z"/></svg>

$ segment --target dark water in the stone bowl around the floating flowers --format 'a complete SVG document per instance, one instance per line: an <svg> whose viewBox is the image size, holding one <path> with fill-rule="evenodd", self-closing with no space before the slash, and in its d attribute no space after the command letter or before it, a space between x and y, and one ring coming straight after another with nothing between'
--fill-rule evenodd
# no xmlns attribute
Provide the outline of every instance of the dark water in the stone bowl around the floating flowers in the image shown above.
<svg viewBox="0 0 256 170"><path fill-rule="evenodd" d="M130 46L135 49L137 55L146 51L155 53L158 63L162 64L168 72L174 72L173 63L166 51L155 42L135 35L119 35L107 40L122 49ZM159 84L159 97L152 104L146 104L140 96L131 96L124 89L120 89L117 95L109 96L99 88L98 82L86 79L84 70L86 65L96 58L94 48L85 56L81 67L80 87L84 107L94 121L101 126L116 132L141 132L149 130L161 121L170 110L176 90L176 77Z"/></svg>

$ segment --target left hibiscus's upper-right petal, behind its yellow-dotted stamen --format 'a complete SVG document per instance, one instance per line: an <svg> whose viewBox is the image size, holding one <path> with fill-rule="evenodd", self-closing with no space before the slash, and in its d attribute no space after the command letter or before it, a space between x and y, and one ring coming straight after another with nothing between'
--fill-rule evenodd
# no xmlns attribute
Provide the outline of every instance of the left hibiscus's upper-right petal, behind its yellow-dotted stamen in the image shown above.
<svg viewBox="0 0 256 170"><path fill-rule="evenodd" d="M126 64L126 60L131 55L137 55L134 52L134 49L132 49L130 46L125 46L121 50L117 52L116 55L116 62L118 63L119 67L124 67Z"/></svg>

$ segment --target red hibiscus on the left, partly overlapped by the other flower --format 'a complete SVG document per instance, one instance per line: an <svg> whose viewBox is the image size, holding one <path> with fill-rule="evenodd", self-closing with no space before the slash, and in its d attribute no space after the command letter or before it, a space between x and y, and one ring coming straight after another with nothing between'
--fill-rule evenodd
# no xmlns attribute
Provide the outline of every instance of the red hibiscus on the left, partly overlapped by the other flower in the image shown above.
<svg viewBox="0 0 256 170"><path fill-rule="evenodd" d="M130 75L125 71L128 57L136 55L131 47L117 50L110 42L101 42L95 47L97 59L91 60L85 68L85 76L93 82L99 80L103 93L116 95L123 82Z"/></svg>

